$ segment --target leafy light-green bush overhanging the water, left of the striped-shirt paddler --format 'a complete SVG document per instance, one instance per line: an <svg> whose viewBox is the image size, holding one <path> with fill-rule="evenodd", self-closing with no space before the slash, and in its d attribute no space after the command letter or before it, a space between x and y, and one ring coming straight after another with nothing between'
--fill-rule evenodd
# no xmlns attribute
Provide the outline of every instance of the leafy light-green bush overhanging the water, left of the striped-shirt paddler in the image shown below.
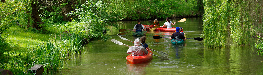
<svg viewBox="0 0 263 75"><path fill-rule="evenodd" d="M97 11L105 9L104 5L105 3L102 3L102 1L86 1L85 4L81 5L81 8L70 13L72 15L78 15L78 20L80 21L72 20L68 22L66 24L66 26L68 26L67 28L72 28L71 33L79 33L81 37L87 40L91 38L108 39L109 36L104 36L103 33L107 30L108 19L101 18L95 14Z"/></svg>

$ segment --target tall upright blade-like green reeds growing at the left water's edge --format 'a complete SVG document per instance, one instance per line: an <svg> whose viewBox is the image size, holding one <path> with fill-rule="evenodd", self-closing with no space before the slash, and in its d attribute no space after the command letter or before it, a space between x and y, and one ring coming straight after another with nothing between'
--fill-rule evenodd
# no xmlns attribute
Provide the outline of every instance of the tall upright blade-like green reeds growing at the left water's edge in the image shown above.
<svg viewBox="0 0 263 75"><path fill-rule="evenodd" d="M36 63L44 64L44 72L57 72L63 68L63 60L69 55L79 53L82 39L78 34L71 36L59 36L60 40L56 38L45 42L41 42L37 47L33 48Z"/></svg>

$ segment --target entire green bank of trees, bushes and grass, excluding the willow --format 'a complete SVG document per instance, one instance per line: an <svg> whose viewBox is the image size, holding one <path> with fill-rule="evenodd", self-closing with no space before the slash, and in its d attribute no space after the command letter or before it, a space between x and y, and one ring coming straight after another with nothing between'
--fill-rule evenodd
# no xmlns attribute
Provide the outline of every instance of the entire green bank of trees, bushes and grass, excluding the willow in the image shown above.
<svg viewBox="0 0 263 75"><path fill-rule="evenodd" d="M2 0L1 0L2 1ZM92 39L107 40L119 20L202 16L202 0L4 0L0 3L0 68L26 74L44 64L44 74L61 70L69 55ZM182 7L183 6L183 7Z"/></svg>

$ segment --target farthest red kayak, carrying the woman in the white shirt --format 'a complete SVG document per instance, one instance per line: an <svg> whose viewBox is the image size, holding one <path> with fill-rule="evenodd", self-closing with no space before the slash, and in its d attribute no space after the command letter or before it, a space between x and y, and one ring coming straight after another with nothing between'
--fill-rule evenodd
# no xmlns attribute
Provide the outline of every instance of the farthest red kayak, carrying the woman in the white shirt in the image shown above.
<svg viewBox="0 0 263 75"><path fill-rule="evenodd" d="M146 30L150 30L153 27L153 26L148 26L148 25L144 25L144 26L147 26ZM150 27L150 28L148 28L148 27ZM167 28L166 26L164 26L162 28L156 28L154 31L176 32L176 28L175 27Z"/></svg>

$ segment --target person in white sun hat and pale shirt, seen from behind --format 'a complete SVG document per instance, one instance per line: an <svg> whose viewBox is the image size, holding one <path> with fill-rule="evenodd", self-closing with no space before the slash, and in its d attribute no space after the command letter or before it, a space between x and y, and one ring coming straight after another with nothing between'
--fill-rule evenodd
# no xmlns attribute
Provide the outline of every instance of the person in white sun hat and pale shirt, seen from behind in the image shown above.
<svg viewBox="0 0 263 75"><path fill-rule="evenodd" d="M134 46L129 47L127 54L132 53L132 56L142 56L143 53L146 55L148 54L148 51L143 46L141 46L141 41L139 38L135 39L133 43Z"/></svg>

